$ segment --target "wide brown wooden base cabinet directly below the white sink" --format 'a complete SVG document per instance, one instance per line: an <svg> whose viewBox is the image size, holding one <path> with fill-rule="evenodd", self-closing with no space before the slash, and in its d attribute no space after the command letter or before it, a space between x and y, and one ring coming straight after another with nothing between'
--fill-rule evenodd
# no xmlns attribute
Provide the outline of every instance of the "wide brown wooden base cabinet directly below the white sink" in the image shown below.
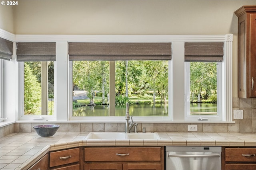
<svg viewBox="0 0 256 170"><path fill-rule="evenodd" d="M84 170L163 170L164 147L84 148Z"/></svg>

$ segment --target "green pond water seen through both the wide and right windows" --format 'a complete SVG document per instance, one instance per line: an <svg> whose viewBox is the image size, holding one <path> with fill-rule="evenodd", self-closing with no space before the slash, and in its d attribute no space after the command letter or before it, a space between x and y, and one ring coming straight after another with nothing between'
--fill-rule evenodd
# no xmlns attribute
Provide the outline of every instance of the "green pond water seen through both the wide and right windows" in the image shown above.
<svg viewBox="0 0 256 170"><path fill-rule="evenodd" d="M193 103L191 112L217 112L216 104ZM126 106L116 106L116 116L125 116ZM131 104L129 113L133 116L168 116L168 104ZM109 106L83 106L73 108L73 116L109 116Z"/></svg>

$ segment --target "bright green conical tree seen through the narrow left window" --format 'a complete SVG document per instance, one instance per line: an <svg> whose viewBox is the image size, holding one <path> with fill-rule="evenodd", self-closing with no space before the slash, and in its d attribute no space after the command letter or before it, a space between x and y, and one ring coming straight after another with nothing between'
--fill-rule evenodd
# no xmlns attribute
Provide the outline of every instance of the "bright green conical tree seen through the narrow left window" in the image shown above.
<svg viewBox="0 0 256 170"><path fill-rule="evenodd" d="M30 65L24 63L24 114L40 113L41 87Z"/></svg>

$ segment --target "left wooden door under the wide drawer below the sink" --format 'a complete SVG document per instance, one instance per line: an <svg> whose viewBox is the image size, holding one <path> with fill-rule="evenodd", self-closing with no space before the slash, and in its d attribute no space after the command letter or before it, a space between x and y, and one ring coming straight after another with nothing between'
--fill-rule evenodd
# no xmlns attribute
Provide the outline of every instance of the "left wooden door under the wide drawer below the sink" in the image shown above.
<svg viewBox="0 0 256 170"><path fill-rule="evenodd" d="M84 164L84 170L122 170L122 164Z"/></svg>

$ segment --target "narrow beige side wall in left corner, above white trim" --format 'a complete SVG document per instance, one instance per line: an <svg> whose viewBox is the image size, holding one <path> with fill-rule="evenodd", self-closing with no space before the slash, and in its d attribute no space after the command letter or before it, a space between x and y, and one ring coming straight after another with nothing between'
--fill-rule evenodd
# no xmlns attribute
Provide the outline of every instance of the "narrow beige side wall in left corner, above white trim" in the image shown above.
<svg viewBox="0 0 256 170"><path fill-rule="evenodd" d="M0 5L0 28L10 33L14 33L12 6Z"/></svg>

